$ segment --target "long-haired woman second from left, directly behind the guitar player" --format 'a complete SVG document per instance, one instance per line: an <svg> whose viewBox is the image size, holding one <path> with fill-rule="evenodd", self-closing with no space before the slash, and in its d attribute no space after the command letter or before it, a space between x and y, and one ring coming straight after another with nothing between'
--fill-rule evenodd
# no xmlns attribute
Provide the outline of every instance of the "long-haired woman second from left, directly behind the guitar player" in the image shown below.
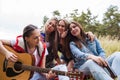
<svg viewBox="0 0 120 80"><path fill-rule="evenodd" d="M57 33L57 18L49 19L45 24L45 42L47 44L48 55L46 57L46 67L54 70L67 71L66 65L61 65L58 55L58 33ZM54 63L56 60L57 65ZM69 80L67 76L58 76L59 80Z"/></svg>

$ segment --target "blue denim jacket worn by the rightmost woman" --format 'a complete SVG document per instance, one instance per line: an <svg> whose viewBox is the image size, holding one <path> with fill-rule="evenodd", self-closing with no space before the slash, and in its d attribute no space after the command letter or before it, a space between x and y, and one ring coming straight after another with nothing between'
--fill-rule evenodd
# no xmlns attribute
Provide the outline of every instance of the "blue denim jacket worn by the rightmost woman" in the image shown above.
<svg viewBox="0 0 120 80"><path fill-rule="evenodd" d="M75 68L78 68L84 64L90 54L105 58L105 52L97 38L95 38L93 42L86 38L86 45L82 44L82 48L77 47L76 43L71 41L70 49L74 56Z"/></svg>

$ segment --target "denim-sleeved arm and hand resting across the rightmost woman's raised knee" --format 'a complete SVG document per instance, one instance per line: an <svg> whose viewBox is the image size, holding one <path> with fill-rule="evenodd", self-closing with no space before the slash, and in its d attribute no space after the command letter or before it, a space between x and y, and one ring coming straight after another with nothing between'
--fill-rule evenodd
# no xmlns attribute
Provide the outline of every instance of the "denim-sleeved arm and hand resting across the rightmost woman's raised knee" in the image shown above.
<svg viewBox="0 0 120 80"><path fill-rule="evenodd" d="M70 43L70 48L72 51L72 54L77 58L77 59L84 59L84 60L88 60L88 59L92 59L93 61L95 61L97 64L99 64L100 66L107 66L106 61L100 57L100 56L95 56L93 54L89 54L89 53L85 53L82 52L76 45L74 42Z"/></svg>

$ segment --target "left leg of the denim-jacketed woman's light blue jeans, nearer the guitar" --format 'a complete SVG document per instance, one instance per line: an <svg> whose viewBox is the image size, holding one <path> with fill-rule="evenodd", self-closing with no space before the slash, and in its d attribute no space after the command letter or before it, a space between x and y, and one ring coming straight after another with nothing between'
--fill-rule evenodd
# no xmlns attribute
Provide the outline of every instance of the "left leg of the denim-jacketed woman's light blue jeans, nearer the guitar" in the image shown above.
<svg viewBox="0 0 120 80"><path fill-rule="evenodd" d="M87 60L82 66L80 66L79 70L83 71L85 74L92 74L95 80L113 80L104 68L99 66L93 60Z"/></svg>

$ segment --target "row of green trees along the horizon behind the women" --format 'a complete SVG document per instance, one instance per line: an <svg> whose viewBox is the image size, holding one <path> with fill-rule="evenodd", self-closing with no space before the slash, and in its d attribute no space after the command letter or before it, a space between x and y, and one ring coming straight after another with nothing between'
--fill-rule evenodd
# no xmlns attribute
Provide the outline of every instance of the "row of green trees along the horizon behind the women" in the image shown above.
<svg viewBox="0 0 120 80"><path fill-rule="evenodd" d="M70 18L79 22L85 31L92 31L99 36L110 36L111 39L117 38L120 40L120 11L117 6L109 6L103 14L102 21L97 20L98 16L92 15L90 9L87 12L78 13L78 9L73 10L72 13L65 14L63 18ZM58 10L53 11L53 16L61 17ZM43 17L43 25L49 18Z"/></svg>

